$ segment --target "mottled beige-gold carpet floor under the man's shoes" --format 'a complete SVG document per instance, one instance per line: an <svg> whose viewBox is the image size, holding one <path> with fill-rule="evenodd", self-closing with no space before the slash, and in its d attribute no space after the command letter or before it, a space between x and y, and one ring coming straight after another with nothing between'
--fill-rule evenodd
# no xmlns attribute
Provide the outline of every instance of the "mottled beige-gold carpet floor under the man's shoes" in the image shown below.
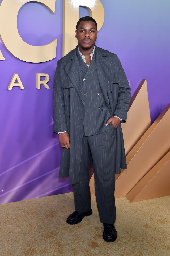
<svg viewBox="0 0 170 256"><path fill-rule="evenodd" d="M118 237L102 238L95 196L93 214L77 225L73 193L0 205L1 256L170 256L170 196L130 203L116 199Z"/></svg>

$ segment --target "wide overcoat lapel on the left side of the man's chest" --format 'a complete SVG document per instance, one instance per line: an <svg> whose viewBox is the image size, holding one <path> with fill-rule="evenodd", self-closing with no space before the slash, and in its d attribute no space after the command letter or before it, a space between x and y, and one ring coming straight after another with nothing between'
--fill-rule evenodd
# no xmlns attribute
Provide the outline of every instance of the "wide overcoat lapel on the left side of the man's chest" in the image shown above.
<svg viewBox="0 0 170 256"><path fill-rule="evenodd" d="M82 79L80 74L79 61L76 56L76 49L77 47L73 51L71 51L69 54L67 54L63 58L62 62L65 62L65 64L63 65L63 68L68 74L71 82L73 83L75 89L77 90L77 93L79 94L79 97L82 100L82 103L84 105Z"/></svg>

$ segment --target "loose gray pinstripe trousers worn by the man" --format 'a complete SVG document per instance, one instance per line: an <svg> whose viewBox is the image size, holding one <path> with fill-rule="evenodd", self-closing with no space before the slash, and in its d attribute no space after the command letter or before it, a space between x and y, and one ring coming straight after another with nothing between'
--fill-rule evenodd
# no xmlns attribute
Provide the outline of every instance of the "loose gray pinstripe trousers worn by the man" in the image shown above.
<svg viewBox="0 0 170 256"><path fill-rule="evenodd" d="M73 184L75 210L82 213L91 209L89 170L90 157L94 163L95 195L100 221L114 223L116 207L115 188L115 149L116 128L100 134L83 136L79 183Z"/></svg>

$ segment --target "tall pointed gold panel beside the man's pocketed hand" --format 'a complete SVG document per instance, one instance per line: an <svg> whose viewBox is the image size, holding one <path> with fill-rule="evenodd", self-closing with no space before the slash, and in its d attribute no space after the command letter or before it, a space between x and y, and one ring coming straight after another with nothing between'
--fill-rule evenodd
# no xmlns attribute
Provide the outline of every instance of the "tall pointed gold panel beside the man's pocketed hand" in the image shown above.
<svg viewBox="0 0 170 256"><path fill-rule="evenodd" d="M122 124L126 155L150 126L147 83L143 79L131 98L127 121Z"/></svg>

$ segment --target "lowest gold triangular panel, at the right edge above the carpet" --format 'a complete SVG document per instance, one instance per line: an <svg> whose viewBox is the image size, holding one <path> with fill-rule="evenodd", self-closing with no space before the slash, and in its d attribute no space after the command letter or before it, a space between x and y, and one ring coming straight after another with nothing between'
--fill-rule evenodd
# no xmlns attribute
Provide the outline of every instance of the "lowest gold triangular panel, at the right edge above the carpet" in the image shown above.
<svg viewBox="0 0 170 256"><path fill-rule="evenodd" d="M170 195L170 151L126 195L130 202Z"/></svg>

